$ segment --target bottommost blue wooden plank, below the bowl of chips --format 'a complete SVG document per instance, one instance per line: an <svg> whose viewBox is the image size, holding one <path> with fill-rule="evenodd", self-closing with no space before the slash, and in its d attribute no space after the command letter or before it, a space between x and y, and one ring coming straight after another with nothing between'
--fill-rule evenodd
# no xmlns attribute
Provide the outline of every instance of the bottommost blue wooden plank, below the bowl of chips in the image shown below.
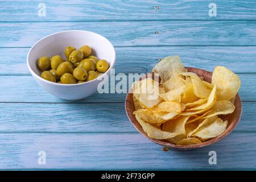
<svg viewBox="0 0 256 182"><path fill-rule="evenodd" d="M0 134L0 169L256 169L256 134L200 150L164 152L141 134ZM46 152L46 165L38 152ZM216 151L217 165L210 165Z"/></svg>

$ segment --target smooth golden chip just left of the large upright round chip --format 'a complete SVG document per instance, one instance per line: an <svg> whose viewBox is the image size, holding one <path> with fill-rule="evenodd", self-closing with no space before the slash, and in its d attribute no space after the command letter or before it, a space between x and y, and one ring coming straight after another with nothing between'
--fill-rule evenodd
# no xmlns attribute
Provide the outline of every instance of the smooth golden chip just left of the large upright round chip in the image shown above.
<svg viewBox="0 0 256 182"><path fill-rule="evenodd" d="M191 78L192 85L193 85L193 91L196 95L196 97L199 98L208 98L210 95L210 90L207 86L204 85L203 81L197 80L195 78Z"/></svg>

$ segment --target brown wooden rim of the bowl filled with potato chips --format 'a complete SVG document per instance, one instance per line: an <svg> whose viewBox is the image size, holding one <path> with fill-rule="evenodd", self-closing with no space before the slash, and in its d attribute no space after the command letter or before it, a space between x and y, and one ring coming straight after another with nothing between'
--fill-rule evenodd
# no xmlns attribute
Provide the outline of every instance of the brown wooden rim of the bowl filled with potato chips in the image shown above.
<svg viewBox="0 0 256 182"><path fill-rule="evenodd" d="M205 71L204 69L192 68L192 67L186 67L186 68L188 69L188 71L191 71L191 72L200 71L202 73L208 73L210 75L210 77L212 77L212 72ZM147 76L149 74L152 74L152 73L147 73L146 76L142 77L141 79L143 80L143 79L147 78ZM210 144L218 142L219 140L226 137L228 134L230 134L234 130L234 128L237 126L238 122L240 122L241 115L242 115L242 102L241 102L241 98L240 98L239 94L237 94L236 100L234 103L234 105L236 106L236 109L234 110L234 112L232 114L237 113L239 115L238 115L238 117L233 119L233 121L228 125L227 129L224 131L224 133L222 133L221 135L218 135L218 137L209 139L202 143L190 144L190 145L177 145L177 144L168 142L168 140L152 139L152 138L148 137L148 135L144 132L141 125L139 124L139 122L133 115L134 104L133 104L132 97L133 97L133 92L132 92L132 88L130 88L129 92L126 95L126 99L125 99L125 111L126 111L127 117L129 118L130 122L133 124L135 129L137 129L137 131L139 131L139 133L141 133L142 135L144 135L144 137L148 138L149 140L151 140L154 143L160 144L162 146L170 147L170 148L180 149L180 150L201 148L201 147L209 146ZM130 109L129 109L130 105L132 105L133 111L130 111ZM131 117L133 117L133 119ZM228 121L228 122L230 122L230 121ZM138 128L137 125L140 127Z"/></svg>

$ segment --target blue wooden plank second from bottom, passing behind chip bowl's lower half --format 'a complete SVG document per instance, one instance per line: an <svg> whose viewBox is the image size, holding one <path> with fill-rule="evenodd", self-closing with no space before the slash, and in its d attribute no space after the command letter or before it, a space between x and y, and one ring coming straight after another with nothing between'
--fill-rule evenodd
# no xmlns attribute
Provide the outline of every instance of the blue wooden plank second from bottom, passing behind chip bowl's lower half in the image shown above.
<svg viewBox="0 0 256 182"><path fill-rule="evenodd" d="M115 104L0 104L0 132L119 133L137 132ZM256 131L251 113L256 102L243 102L243 114L235 132Z"/></svg>

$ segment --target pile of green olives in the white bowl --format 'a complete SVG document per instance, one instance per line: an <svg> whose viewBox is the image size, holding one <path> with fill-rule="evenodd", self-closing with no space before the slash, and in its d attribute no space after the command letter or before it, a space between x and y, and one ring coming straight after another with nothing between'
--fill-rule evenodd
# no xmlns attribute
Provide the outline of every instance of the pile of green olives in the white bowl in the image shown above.
<svg viewBox="0 0 256 182"><path fill-rule="evenodd" d="M82 46L79 49L68 46L64 51L68 60L60 55L51 58L43 56L38 59L37 65L43 71L41 77L48 81L80 84L96 79L109 69L108 61L100 60L91 54L92 48L89 46Z"/></svg>

